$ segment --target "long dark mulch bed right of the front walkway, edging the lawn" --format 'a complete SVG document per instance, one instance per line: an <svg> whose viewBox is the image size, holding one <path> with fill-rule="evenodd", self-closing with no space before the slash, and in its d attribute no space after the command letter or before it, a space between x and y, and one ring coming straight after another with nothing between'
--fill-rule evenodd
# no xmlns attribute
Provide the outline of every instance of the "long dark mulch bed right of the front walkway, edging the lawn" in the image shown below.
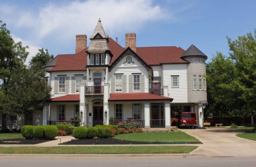
<svg viewBox="0 0 256 167"><path fill-rule="evenodd" d="M171 143L161 143L161 142L133 142L126 140L116 140L113 138L104 139L86 139L86 140L71 140L65 142L61 145L97 145L97 144L171 144ZM173 143L172 143L173 144Z"/></svg>

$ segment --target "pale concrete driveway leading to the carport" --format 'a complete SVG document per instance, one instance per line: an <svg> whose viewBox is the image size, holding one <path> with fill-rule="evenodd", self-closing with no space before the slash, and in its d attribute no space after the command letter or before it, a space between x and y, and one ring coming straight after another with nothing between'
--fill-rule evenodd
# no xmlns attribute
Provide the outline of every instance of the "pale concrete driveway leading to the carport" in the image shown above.
<svg viewBox="0 0 256 167"><path fill-rule="evenodd" d="M256 157L256 141L237 137L237 131L224 127L207 129L181 129L203 142L191 152L197 156L253 156Z"/></svg>

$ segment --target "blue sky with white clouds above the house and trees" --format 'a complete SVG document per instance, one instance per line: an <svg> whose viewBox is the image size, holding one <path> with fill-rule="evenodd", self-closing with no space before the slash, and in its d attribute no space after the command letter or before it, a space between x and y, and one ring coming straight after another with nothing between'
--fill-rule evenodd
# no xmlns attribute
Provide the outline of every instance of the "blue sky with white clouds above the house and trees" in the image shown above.
<svg viewBox="0 0 256 167"><path fill-rule="evenodd" d="M100 17L108 36L124 46L125 33L137 34L137 46L194 44L208 56L228 54L226 36L235 40L256 28L254 0L0 0L0 20L15 41L51 54L75 52L75 35L92 35ZM89 42L88 42L89 44Z"/></svg>

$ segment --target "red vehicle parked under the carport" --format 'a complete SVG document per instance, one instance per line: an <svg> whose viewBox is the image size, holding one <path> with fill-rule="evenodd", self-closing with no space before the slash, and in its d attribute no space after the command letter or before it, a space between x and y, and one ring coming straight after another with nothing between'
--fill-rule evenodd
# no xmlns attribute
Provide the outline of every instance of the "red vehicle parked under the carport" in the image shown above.
<svg viewBox="0 0 256 167"><path fill-rule="evenodd" d="M180 112L178 127L197 127L197 117L194 112Z"/></svg>

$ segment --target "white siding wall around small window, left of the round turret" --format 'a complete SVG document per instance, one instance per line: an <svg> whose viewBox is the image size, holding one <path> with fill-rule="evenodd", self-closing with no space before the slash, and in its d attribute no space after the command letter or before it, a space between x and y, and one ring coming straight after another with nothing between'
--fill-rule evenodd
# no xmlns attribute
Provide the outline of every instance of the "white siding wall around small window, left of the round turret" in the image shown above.
<svg viewBox="0 0 256 167"><path fill-rule="evenodd" d="M172 103L187 103L187 64L164 64L162 69L162 85L168 86ZM179 75L179 88L172 88L171 75Z"/></svg>

